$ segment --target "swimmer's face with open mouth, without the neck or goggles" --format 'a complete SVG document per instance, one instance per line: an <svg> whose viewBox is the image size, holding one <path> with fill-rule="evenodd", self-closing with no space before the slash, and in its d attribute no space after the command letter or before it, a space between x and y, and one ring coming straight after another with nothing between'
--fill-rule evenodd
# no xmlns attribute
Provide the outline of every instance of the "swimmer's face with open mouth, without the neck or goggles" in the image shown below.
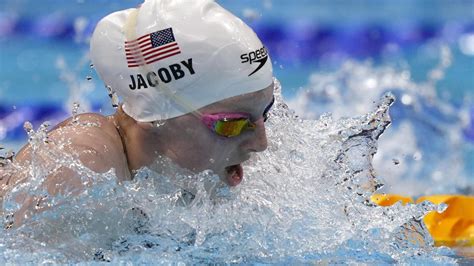
<svg viewBox="0 0 474 266"><path fill-rule="evenodd" d="M273 85L199 110L202 114L248 113L256 128L234 137L217 135L194 114L168 120L161 134L166 139L165 155L193 172L210 169L228 185L238 185L244 176L241 163L248 160L252 153L267 148L263 113L272 100Z"/></svg>

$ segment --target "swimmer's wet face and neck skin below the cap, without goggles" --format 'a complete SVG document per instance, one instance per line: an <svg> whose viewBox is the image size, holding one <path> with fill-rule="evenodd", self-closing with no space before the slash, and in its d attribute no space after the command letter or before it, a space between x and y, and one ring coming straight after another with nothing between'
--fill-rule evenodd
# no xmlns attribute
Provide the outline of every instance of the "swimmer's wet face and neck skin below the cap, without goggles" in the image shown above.
<svg viewBox="0 0 474 266"><path fill-rule="evenodd" d="M199 110L202 114L249 113L251 120L257 124L256 129L231 138L216 135L193 113L169 119L160 127L136 122L121 110L115 114L114 121L122 136L128 166L132 171L149 166L159 155L164 155L195 173L213 170L226 181L226 167L240 164L248 160L251 153L266 149L267 138L262 114L272 98L273 86L270 86Z"/></svg>

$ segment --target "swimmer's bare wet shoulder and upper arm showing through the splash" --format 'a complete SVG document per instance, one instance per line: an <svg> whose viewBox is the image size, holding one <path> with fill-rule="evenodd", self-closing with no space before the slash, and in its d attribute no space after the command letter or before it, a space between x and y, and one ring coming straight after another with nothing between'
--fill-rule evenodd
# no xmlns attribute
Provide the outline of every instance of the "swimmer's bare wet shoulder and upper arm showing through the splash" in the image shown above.
<svg viewBox="0 0 474 266"><path fill-rule="evenodd" d="M13 164L7 165L15 165L10 169L13 171L0 167L0 204L3 204L3 196L8 191L31 178L28 169L33 160L36 165L41 165L43 173L47 173L42 185L50 195L77 195L83 191L85 186L92 184L84 182L83 171L104 173L115 169L119 180L131 178L122 139L112 117L81 114L76 119L69 118L37 143L39 147L27 144L18 152ZM15 199L22 205L14 215L16 226L24 218L50 208L42 205L42 197L30 195L28 191Z"/></svg>

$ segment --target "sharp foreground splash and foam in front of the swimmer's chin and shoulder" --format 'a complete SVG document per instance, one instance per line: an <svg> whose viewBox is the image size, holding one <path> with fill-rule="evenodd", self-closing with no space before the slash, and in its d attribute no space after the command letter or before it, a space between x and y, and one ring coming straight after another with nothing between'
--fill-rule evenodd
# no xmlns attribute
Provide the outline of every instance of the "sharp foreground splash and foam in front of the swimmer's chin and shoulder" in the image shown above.
<svg viewBox="0 0 474 266"><path fill-rule="evenodd" d="M45 126L30 130L32 162L23 168L7 162L3 168L29 178L4 197L4 222L11 224L11 214L21 207L14 200L18 193L42 197L40 207L48 209L0 233L0 260L455 263L453 252L432 246L420 222L437 206L379 207L369 201L383 186L372 159L391 123L392 94L361 116L304 120L275 84L269 147L244 164L245 179L236 188L223 186L209 171L152 170L170 166L166 159L118 184L113 169L96 174L74 155L62 156L61 145L47 149ZM42 163L42 156L55 163ZM61 165L78 172L87 189L48 195L40 181Z"/></svg>

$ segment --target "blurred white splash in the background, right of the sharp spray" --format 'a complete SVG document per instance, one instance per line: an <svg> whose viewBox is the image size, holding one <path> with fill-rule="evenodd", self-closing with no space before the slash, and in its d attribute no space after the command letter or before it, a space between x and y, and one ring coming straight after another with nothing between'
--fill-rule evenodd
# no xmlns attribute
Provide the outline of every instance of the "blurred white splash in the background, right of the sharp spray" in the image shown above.
<svg viewBox="0 0 474 266"><path fill-rule="evenodd" d="M455 107L436 93L451 57L450 50L441 47L439 63L425 82L418 83L407 69L348 61L335 72L311 75L307 88L289 105L305 118L327 112L335 118L350 117L368 112L374 101L391 91L399 98L391 110L396 120L374 159L387 190L407 196L469 191L474 180L463 158L468 103Z"/></svg>

